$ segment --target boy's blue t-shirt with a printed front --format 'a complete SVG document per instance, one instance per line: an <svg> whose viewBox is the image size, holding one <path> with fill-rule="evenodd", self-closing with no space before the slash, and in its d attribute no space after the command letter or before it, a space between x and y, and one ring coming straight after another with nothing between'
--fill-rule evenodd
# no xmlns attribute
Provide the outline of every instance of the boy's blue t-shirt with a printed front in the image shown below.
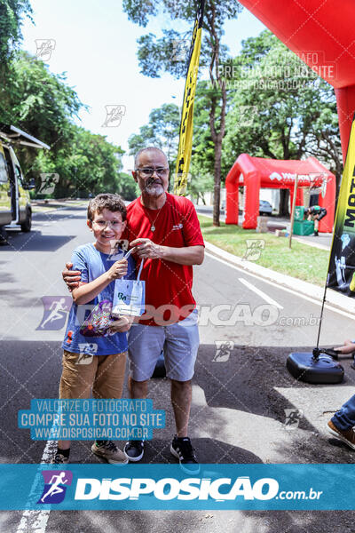
<svg viewBox="0 0 355 533"><path fill-rule="evenodd" d="M122 259L123 255L124 251L122 250L118 250L112 256L97 250L92 243L87 243L75 248L71 262L73 263L73 270L81 271L82 282L89 283L109 270L114 261ZM136 279L136 262L131 256L128 258L128 273L124 277L125 279ZM84 337L80 333L81 325L91 314L94 306L103 300L112 302L113 298L114 281L109 283L91 302L82 305L72 303L67 319L66 335L62 344L67 352L110 355L121 354L128 349L126 333L117 332L114 335L105 335L104 337Z"/></svg>

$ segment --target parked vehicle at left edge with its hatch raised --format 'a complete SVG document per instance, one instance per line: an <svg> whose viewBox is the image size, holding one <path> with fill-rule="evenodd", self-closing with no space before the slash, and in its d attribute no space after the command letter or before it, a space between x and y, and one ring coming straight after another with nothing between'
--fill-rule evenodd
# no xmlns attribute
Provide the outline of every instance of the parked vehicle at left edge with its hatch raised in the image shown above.
<svg viewBox="0 0 355 533"><path fill-rule="evenodd" d="M0 242L6 241L6 227L31 230L32 208L29 190L34 182L25 181L13 146L50 147L15 126L0 125Z"/></svg>

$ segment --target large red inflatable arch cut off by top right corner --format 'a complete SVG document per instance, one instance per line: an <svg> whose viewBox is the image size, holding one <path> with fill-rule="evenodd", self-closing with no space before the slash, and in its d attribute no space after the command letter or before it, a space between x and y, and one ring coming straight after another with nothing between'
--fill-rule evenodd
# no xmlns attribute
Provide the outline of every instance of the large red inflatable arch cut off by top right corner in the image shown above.
<svg viewBox="0 0 355 533"><path fill-rule="evenodd" d="M335 88L345 161L355 111L355 1L240 1Z"/></svg>

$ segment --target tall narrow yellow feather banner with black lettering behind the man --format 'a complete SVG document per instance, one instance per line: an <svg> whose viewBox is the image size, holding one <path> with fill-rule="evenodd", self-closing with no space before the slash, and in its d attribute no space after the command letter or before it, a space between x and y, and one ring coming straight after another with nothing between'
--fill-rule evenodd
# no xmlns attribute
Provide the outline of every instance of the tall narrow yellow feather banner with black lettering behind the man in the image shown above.
<svg viewBox="0 0 355 533"><path fill-rule="evenodd" d="M184 102L181 114L177 166L174 174L174 195L179 196L185 196L186 194L187 176L190 168L191 151L193 148L193 102L200 63L203 4L204 2L201 2L194 23L193 38L189 54L190 62L187 70Z"/></svg>

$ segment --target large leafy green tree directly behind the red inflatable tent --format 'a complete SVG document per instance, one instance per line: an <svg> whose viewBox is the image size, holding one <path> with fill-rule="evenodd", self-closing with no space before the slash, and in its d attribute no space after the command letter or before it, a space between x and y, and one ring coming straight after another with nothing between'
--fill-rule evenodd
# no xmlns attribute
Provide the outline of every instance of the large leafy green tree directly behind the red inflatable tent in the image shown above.
<svg viewBox="0 0 355 533"><path fill-rule="evenodd" d="M243 152L272 159L314 155L330 163L339 182L342 154L333 87L270 31L243 43L233 60L232 86L224 143L230 166ZM288 214L286 190L280 214Z"/></svg>

